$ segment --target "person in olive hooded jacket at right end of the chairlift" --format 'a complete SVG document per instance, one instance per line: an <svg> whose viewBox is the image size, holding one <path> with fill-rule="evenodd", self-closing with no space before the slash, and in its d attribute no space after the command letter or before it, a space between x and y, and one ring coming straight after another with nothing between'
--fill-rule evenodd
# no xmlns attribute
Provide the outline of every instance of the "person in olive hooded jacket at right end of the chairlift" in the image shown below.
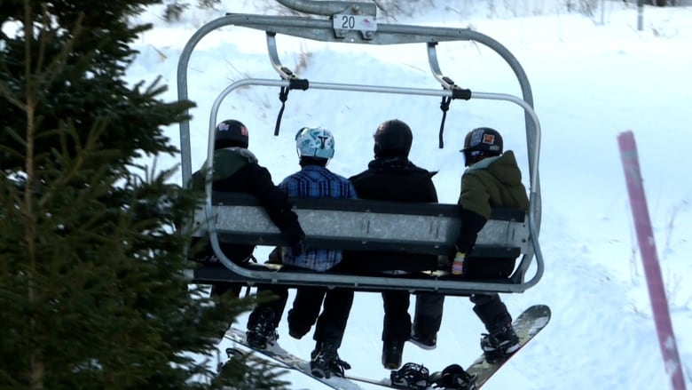
<svg viewBox="0 0 692 390"><path fill-rule="evenodd" d="M473 249L478 232L490 218L493 207L529 210L522 172L514 152L503 153L499 132L488 127L469 131L461 152L468 168L461 176L461 227L452 274L466 278L507 277L514 270L514 258L475 258ZM488 330L481 340L484 354L492 359L514 353L519 340L512 329L512 316L499 295L473 294L471 302Z"/></svg>

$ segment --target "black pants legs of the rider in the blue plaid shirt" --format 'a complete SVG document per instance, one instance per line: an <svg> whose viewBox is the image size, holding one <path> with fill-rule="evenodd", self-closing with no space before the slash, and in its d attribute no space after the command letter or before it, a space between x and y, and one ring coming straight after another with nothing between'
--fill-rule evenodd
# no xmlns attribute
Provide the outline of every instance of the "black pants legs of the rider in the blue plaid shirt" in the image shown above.
<svg viewBox="0 0 692 390"><path fill-rule="evenodd" d="M352 305L353 291L350 289L300 287L295 292L293 308L288 311L288 330L291 336L302 338L315 324L312 338L334 340L341 345Z"/></svg>

